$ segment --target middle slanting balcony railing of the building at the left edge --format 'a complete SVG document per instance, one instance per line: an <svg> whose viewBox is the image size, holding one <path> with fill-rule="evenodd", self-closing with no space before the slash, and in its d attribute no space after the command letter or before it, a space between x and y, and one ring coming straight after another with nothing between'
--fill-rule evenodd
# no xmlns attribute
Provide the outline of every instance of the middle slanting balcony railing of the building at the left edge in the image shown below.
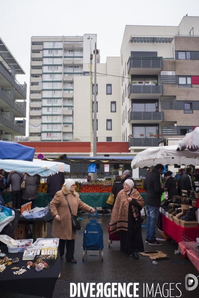
<svg viewBox="0 0 199 298"><path fill-rule="evenodd" d="M12 89L10 89L10 94L5 91L1 86L0 86L0 97L8 103L12 108L17 110L21 115L26 117L26 101L21 100L21 101L15 101L14 100L14 92Z"/></svg>

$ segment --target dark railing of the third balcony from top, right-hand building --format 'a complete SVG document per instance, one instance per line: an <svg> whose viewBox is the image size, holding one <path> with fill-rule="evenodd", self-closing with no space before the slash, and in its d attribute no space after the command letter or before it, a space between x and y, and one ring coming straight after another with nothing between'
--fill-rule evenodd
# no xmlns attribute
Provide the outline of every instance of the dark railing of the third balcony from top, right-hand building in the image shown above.
<svg viewBox="0 0 199 298"><path fill-rule="evenodd" d="M155 120L155 121L163 121L164 120L164 111L151 111L151 109L143 109L143 110L133 110L130 109L128 111L128 122L131 120Z"/></svg>

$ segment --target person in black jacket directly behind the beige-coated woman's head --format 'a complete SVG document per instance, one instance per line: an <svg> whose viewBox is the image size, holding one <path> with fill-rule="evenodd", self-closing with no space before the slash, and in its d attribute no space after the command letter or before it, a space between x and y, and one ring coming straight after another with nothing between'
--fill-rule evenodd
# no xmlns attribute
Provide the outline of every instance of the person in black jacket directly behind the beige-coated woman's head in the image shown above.
<svg viewBox="0 0 199 298"><path fill-rule="evenodd" d="M52 201L55 194L62 189L62 185L65 183L64 173L58 172L48 176L46 183L48 185L47 193L50 196L50 201Z"/></svg>

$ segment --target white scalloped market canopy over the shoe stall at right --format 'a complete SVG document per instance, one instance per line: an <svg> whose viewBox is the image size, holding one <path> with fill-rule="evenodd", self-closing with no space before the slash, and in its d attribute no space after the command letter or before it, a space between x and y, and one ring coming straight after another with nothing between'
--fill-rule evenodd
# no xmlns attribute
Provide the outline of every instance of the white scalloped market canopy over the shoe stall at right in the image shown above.
<svg viewBox="0 0 199 298"><path fill-rule="evenodd" d="M177 146L151 147L145 149L133 158L131 166L133 169L144 166L163 165L199 165L199 150L192 152L189 149L177 151Z"/></svg>

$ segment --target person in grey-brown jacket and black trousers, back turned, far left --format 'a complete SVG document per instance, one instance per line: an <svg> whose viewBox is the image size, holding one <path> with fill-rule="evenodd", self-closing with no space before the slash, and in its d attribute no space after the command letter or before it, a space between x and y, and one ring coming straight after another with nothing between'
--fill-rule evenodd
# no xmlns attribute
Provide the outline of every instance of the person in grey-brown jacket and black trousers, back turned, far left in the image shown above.
<svg viewBox="0 0 199 298"><path fill-rule="evenodd" d="M22 201L22 189L21 189L21 178L22 174L12 171L7 177L7 185L11 184L11 198L12 198L12 208L21 209Z"/></svg>

